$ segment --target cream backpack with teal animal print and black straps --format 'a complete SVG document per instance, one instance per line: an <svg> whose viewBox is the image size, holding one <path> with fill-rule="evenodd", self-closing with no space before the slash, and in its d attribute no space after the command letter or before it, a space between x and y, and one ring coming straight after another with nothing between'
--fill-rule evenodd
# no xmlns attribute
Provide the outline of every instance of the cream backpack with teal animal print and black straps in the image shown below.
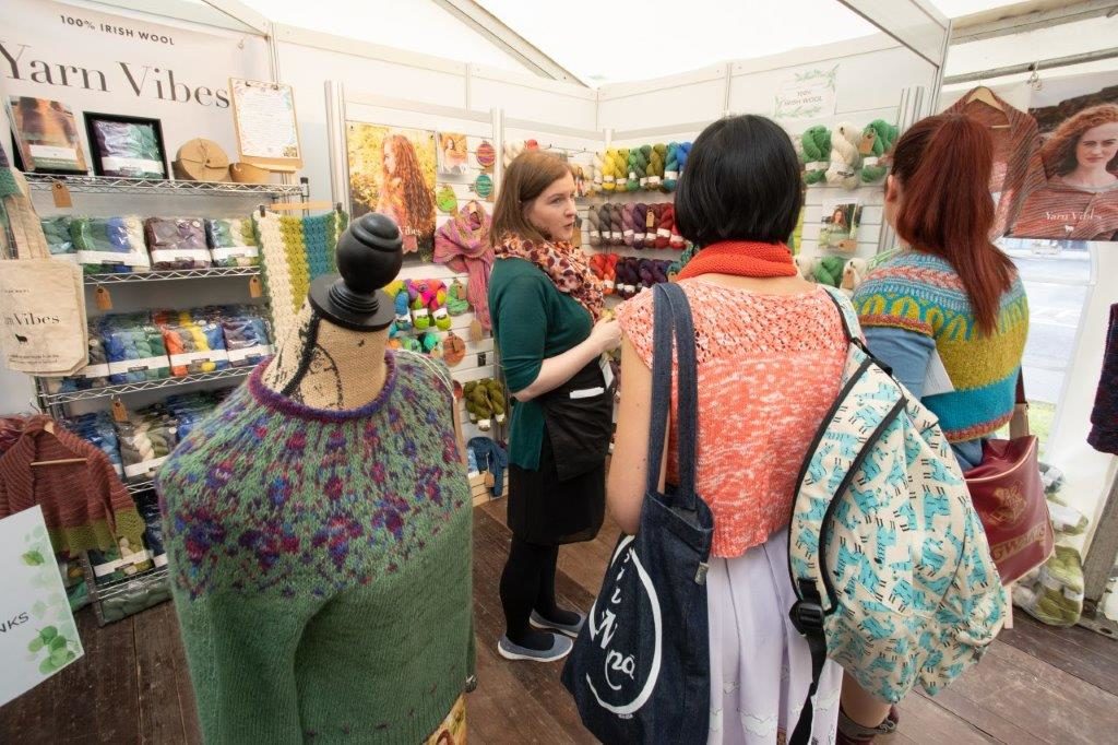
<svg viewBox="0 0 1118 745"><path fill-rule="evenodd" d="M935 694L977 662L1006 597L936 416L874 360L850 301L827 287L850 350L800 470L788 540L792 621L812 687L789 743L807 743L826 658L871 695Z"/></svg>

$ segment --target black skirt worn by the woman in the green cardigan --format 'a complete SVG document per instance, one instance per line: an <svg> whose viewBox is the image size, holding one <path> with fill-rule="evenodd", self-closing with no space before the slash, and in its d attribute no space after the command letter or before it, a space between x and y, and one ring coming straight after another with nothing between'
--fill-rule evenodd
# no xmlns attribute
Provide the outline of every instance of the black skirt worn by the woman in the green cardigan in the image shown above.
<svg viewBox="0 0 1118 745"><path fill-rule="evenodd" d="M537 470L509 466L509 528L521 540L542 546L593 540L605 512L605 460L560 481L547 431Z"/></svg>

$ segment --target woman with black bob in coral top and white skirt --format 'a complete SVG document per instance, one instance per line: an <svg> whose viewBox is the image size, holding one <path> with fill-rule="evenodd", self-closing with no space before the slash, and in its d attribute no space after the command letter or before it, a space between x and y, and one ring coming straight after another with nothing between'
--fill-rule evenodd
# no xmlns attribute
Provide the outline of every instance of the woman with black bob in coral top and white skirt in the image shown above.
<svg viewBox="0 0 1118 745"><path fill-rule="evenodd" d="M694 141L675 197L699 252L680 274L695 326L697 490L714 516L707 575L711 743L792 735L812 680L788 619L788 522L811 440L839 394L846 337L835 302L802 279L786 241L803 206L788 135L764 116L720 120ZM637 529L647 469L652 293L618 309L622 402L608 506ZM666 474L674 482L676 423ZM813 737L834 742L842 669L827 661Z"/></svg>

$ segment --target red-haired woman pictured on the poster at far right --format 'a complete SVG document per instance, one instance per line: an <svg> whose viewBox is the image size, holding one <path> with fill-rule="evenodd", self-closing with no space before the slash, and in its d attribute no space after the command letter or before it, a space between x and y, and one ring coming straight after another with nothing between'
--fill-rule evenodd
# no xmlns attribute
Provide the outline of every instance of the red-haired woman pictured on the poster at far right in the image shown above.
<svg viewBox="0 0 1118 745"><path fill-rule="evenodd" d="M1118 105L1084 109L1041 150L1048 183L1025 200L1012 235L1023 238L1118 238Z"/></svg>

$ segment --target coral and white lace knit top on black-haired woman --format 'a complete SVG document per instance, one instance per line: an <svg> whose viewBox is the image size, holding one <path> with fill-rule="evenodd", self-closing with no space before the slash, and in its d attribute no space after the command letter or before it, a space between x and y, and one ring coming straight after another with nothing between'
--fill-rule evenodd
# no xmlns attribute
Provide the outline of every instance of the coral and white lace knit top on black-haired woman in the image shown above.
<svg viewBox="0 0 1118 745"><path fill-rule="evenodd" d="M702 277L680 286L695 326L697 487L714 515L711 553L733 558L788 525L800 464L839 394L846 338L822 287L766 295ZM652 293L620 305L617 318L651 367ZM675 437L672 422L670 481L678 473Z"/></svg>

